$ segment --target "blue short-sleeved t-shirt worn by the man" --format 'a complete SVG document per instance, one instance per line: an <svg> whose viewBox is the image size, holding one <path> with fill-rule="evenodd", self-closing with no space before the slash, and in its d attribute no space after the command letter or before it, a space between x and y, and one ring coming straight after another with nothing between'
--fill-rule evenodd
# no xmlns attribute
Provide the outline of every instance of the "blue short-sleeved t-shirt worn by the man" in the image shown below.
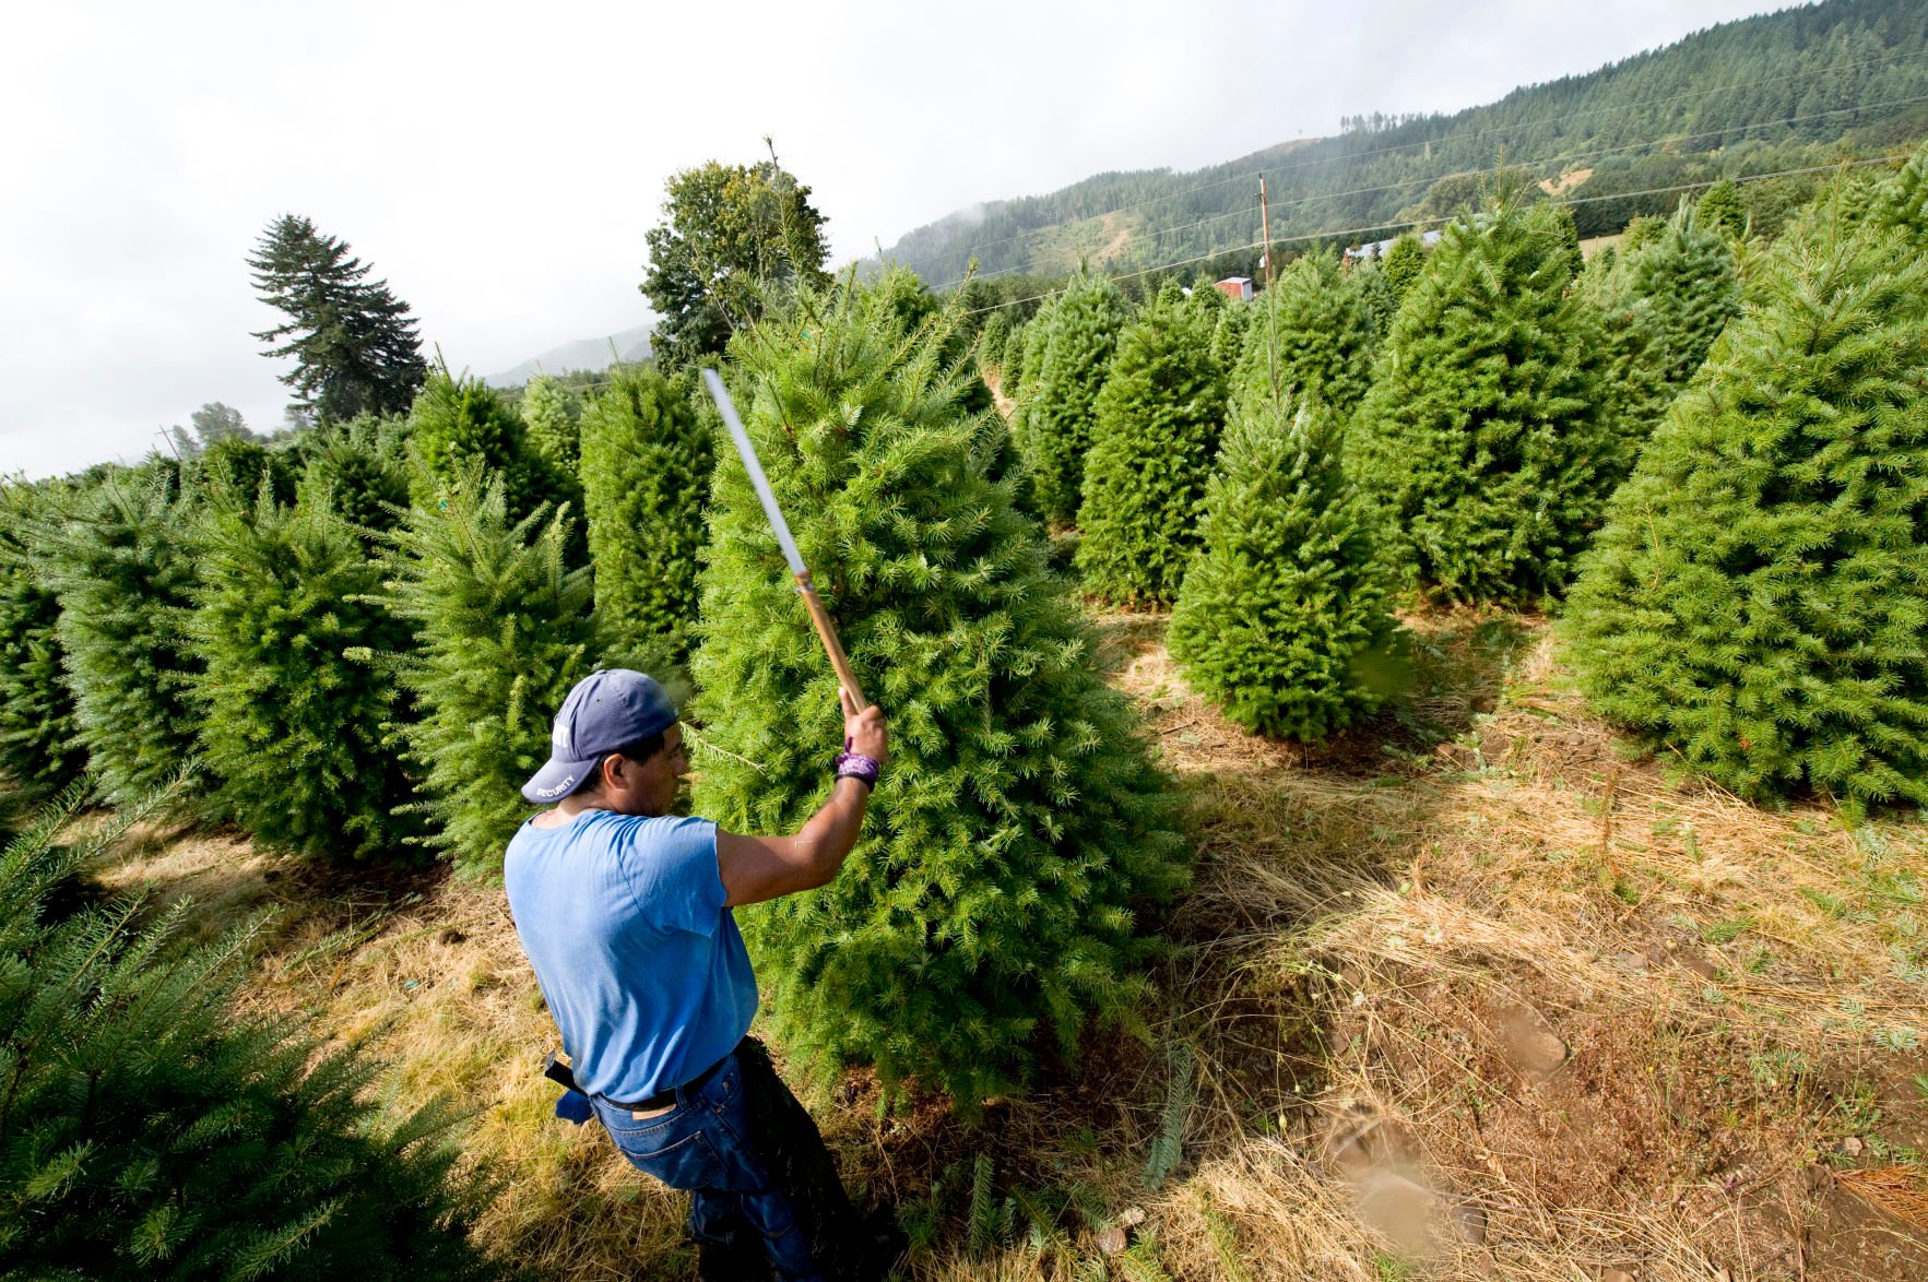
<svg viewBox="0 0 1928 1282"><path fill-rule="evenodd" d="M609 810L524 823L503 883L586 1095L681 1085L750 1031L756 975L723 906L715 823Z"/></svg>

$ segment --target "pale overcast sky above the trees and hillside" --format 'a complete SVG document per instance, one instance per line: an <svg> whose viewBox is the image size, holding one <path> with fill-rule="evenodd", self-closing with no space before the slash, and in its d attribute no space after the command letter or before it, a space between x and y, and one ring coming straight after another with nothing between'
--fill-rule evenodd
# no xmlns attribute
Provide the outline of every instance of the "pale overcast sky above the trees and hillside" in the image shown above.
<svg viewBox="0 0 1928 1282"><path fill-rule="evenodd" d="M0 472L281 420L243 258L281 212L453 368L644 322L663 181L762 137L835 258L1101 170L1456 110L1762 0L21 6L0 44Z"/></svg>

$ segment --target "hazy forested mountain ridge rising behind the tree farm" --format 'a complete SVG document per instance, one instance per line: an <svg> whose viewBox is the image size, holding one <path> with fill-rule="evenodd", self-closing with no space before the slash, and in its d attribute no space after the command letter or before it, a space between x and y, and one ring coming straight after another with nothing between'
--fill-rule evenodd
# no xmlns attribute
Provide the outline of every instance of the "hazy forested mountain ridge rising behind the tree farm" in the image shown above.
<svg viewBox="0 0 1928 1282"><path fill-rule="evenodd" d="M1450 214L1500 160L1573 200L1583 235L1618 231L1672 210L1681 185L1878 156L1928 135L1928 6L1826 0L1456 114L1342 125L1201 170L1097 174L995 200L910 231L885 258L933 287L972 258L983 274L1064 272L1082 256L1151 268L1247 247L1257 258L1261 174L1274 243L1357 243ZM1751 189L1770 218L1795 199L1776 199L1787 183Z"/></svg>

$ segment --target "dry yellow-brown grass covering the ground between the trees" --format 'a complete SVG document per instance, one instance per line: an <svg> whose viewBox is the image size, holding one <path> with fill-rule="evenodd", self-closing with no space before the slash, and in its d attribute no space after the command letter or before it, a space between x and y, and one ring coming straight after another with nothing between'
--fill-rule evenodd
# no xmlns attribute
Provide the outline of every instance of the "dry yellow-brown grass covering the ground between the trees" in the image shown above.
<svg viewBox="0 0 1928 1282"><path fill-rule="evenodd" d="M1165 1008L1153 1045L1093 1045L976 1130L817 1083L846 1182L925 1243L912 1276L1928 1276L1928 829L1675 787L1537 621L1413 623L1413 698L1307 750L1197 700L1161 619L1105 621L1199 842ZM690 1272L679 1195L548 1116L553 1028L499 891L166 833L104 875L195 889L210 929L280 904L249 1001L372 1037L397 1097L474 1101L509 1180L492 1249ZM1184 1161L1153 1189L1161 1132Z"/></svg>

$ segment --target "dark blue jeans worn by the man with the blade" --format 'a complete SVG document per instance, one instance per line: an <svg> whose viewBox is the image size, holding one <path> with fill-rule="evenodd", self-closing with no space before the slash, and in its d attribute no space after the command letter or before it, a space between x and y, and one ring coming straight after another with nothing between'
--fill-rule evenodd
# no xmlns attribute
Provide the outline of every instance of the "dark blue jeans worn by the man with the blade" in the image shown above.
<svg viewBox="0 0 1928 1282"><path fill-rule="evenodd" d="M623 1157L690 1191L698 1247L760 1243L779 1276L794 1282L850 1276L821 1255L850 1243L854 1211L816 1124L758 1043L746 1039L708 1082L677 1091L669 1112L636 1118L605 1099L592 1103Z"/></svg>

